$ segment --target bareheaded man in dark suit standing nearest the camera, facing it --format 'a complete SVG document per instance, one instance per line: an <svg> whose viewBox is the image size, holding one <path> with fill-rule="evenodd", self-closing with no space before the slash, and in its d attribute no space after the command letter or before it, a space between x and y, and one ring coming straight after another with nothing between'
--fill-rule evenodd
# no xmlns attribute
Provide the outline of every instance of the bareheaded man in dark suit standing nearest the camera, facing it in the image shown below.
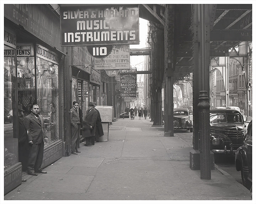
<svg viewBox="0 0 256 204"><path fill-rule="evenodd" d="M44 142L48 141L42 115L39 115L39 106L33 104L31 113L27 115L23 123L28 132L28 143L30 144L30 151L28 155L27 173L29 175L37 176L37 173L46 174L42 170Z"/></svg>

